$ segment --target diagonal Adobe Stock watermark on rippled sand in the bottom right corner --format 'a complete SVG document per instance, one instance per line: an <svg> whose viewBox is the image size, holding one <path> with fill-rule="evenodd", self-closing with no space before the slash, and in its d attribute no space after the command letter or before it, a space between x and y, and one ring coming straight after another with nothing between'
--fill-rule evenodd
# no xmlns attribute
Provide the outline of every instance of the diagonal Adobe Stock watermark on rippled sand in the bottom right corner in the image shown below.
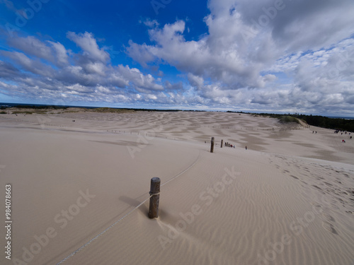
<svg viewBox="0 0 354 265"><path fill-rule="evenodd" d="M321 201L325 204L329 204L322 196ZM309 227L309 224L312 223L316 216L323 213L324 210L322 207L316 208L316 206L312 206L312 211L307 211L304 213L302 217L297 217L296 220L293 220L289 224L289 229L292 231L292 234L282 235L280 241L272 243L268 242L269 248L263 252L263 254L257 254L258 265L269 265L271 262L275 261L275 259L280 255L285 246L288 246L292 243L292 237L299 236L304 232L304 229Z"/></svg>

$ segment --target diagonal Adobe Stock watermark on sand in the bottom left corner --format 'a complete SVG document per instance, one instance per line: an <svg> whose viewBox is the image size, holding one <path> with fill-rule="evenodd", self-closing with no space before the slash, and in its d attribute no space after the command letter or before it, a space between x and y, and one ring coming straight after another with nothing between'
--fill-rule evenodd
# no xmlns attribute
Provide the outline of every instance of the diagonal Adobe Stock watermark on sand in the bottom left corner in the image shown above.
<svg viewBox="0 0 354 265"><path fill-rule="evenodd" d="M62 210L60 213L57 213L53 218L54 222L59 225L60 229L64 229L70 221L77 216L81 208L86 207L91 199L95 198L96 195L89 194L89 189L86 189L86 193L79 191L78 199L76 199L76 203L70 205L66 210ZM21 259L13 258L13 264L15 265L28 265L33 259L35 255L40 254L42 249L47 247L50 243L50 240L55 238L58 235L58 228L49 227L45 230L42 235L34 235L33 243L29 247L22 247L23 253Z"/></svg>

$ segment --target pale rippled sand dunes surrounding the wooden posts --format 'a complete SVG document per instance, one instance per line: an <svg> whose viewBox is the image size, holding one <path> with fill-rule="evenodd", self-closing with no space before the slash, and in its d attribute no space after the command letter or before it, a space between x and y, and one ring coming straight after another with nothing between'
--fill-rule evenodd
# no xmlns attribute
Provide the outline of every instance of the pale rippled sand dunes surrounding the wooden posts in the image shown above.
<svg viewBox="0 0 354 265"><path fill-rule="evenodd" d="M0 263L57 264L160 177L159 218L146 201L64 264L354 264L354 139L284 129L224 112L1 114Z"/></svg>

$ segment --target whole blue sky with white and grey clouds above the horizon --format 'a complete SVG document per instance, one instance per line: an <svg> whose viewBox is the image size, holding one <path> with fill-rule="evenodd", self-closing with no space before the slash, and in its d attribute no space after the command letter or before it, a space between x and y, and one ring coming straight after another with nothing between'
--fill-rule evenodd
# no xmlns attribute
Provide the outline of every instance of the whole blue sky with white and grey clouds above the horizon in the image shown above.
<svg viewBox="0 0 354 265"><path fill-rule="evenodd" d="M353 0L0 0L0 102L354 116Z"/></svg>

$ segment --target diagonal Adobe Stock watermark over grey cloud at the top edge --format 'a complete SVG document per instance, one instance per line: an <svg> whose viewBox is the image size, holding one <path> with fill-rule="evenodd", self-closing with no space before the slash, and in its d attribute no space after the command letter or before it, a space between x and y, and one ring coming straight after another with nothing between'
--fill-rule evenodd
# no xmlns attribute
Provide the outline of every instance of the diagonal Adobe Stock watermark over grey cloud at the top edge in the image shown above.
<svg viewBox="0 0 354 265"><path fill-rule="evenodd" d="M288 0L292 1L292 0ZM284 10L286 7L286 4L284 3L283 0L275 0L273 2L273 6L269 7L262 7L263 13L261 16L258 17L257 20L254 20L253 18L251 19L252 22L252 28L251 30L242 30L241 35L244 39L244 42L248 42L249 39L256 37L257 35L257 30L263 30L263 28L267 27L270 23L271 20L273 20L277 15L279 11Z"/></svg>

